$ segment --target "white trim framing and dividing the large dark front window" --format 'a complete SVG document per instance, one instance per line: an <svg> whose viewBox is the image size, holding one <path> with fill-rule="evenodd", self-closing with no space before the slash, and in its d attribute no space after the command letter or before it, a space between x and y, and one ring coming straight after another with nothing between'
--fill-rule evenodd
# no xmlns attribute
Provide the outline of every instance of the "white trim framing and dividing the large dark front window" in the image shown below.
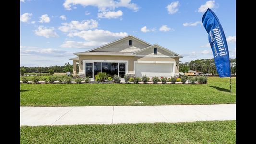
<svg viewBox="0 0 256 144"><path fill-rule="evenodd" d="M85 62L115 62L118 63L118 74L119 74L119 63L125 63L125 73L127 74L129 62L128 60L83 60L83 74L85 74Z"/></svg>

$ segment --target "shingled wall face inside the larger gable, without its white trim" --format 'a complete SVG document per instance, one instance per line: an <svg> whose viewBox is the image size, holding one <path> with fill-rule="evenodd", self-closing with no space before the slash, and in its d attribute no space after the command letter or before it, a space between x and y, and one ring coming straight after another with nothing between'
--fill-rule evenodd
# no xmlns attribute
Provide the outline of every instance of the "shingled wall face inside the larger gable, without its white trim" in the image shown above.
<svg viewBox="0 0 256 144"><path fill-rule="evenodd" d="M132 46L129 46L129 40L132 40ZM143 48L148 47L148 45L143 44L137 40L135 40L134 38L128 37L123 39L120 42L117 42L113 45L110 45L108 47L105 48L101 48L98 50L94 50L94 51L104 51L104 52L135 52L138 50L141 50Z"/></svg>

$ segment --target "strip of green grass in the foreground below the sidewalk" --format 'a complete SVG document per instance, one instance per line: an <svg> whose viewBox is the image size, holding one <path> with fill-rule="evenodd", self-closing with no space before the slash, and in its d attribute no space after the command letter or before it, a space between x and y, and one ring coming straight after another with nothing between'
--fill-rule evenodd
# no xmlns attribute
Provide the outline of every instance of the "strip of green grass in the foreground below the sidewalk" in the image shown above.
<svg viewBox="0 0 256 144"><path fill-rule="evenodd" d="M22 126L21 144L235 144L236 121Z"/></svg>

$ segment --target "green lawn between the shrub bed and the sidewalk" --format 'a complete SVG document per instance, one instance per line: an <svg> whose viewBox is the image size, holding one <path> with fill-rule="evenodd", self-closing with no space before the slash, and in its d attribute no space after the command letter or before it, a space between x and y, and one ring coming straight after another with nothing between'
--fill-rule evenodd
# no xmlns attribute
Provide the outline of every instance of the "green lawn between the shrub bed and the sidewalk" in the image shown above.
<svg viewBox="0 0 256 144"><path fill-rule="evenodd" d="M21 106L124 106L236 103L236 78L209 84L20 84ZM135 103L143 102L143 103Z"/></svg>

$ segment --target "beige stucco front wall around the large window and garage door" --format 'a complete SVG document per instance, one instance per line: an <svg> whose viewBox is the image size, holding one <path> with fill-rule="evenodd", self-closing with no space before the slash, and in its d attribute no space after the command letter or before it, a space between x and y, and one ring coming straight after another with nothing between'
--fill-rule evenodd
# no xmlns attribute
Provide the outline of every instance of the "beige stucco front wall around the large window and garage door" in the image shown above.
<svg viewBox="0 0 256 144"><path fill-rule="evenodd" d="M161 58L161 57L135 57L135 56L100 56L100 55L79 55L79 73L83 72L84 66L81 65L83 60L127 60L128 72L134 72L134 61L175 61L179 63L179 58ZM175 73L178 73L178 67L175 66Z"/></svg>

